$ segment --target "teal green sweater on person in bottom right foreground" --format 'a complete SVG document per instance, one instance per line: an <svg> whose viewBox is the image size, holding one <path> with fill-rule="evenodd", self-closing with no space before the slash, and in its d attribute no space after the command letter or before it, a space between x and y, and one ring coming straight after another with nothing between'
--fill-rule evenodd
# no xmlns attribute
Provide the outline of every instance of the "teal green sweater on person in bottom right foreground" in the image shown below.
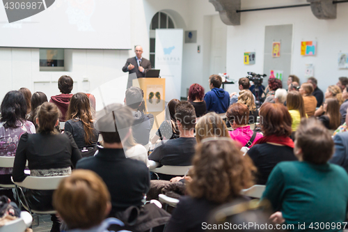
<svg viewBox="0 0 348 232"><path fill-rule="evenodd" d="M348 175L335 164L280 162L268 178L262 199L268 199L275 211L283 213L285 224L294 225L293 231L342 231L347 212ZM303 223L304 228L300 229L299 224Z"/></svg>

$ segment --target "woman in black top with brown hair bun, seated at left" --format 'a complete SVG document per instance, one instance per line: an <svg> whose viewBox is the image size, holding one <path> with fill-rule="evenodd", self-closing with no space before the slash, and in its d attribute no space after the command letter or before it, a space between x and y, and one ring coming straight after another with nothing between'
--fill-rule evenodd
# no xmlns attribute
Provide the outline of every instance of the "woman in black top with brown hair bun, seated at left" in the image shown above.
<svg viewBox="0 0 348 232"><path fill-rule="evenodd" d="M13 166L13 180L22 182L26 178L24 168L29 162L31 176L68 176L78 160L79 148L71 134L56 132L59 110L54 103L45 102L38 109L37 134L23 134L16 150ZM27 190L25 192L29 207L33 210L52 210L53 191ZM55 215L51 217L52 231L59 231Z"/></svg>

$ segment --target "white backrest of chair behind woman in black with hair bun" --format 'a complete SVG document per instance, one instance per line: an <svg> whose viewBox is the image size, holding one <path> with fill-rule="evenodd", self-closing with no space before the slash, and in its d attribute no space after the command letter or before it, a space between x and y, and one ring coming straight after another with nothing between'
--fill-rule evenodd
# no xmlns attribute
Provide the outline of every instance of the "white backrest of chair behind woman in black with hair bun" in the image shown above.
<svg viewBox="0 0 348 232"><path fill-rule="evenodd" d="M67 176L27 176L22 182L14 182L15 185L26 187L30 190L56 190L61 180Z"/></svg>

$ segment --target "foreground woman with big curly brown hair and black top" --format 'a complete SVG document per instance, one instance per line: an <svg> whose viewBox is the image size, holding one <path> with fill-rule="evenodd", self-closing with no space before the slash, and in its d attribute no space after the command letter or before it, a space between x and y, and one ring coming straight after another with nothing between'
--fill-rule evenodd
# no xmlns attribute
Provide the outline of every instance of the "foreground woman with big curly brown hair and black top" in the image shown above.
<svg viewBox="0 0 348 232"><path fill-rule="evenodd" d="M255 167L228 138L207 138L198 144L189 174L189 196L173 211L166 232L202 231L209 213L223 203L241 199L241 190L253 185ZM242 198L243 199L243 198Z"/></svg>

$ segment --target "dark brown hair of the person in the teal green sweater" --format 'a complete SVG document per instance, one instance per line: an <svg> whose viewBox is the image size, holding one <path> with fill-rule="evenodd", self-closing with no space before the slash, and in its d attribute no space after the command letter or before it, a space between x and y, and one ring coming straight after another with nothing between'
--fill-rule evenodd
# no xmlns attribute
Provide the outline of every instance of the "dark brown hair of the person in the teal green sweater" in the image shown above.
<svg viewBox="0 0 348 232"><path fill-rule="evenodd" d="M331 134L316 118L303 118L295 138L295 148L301 148L303 161L326 164L333 155Z"/></svg>

